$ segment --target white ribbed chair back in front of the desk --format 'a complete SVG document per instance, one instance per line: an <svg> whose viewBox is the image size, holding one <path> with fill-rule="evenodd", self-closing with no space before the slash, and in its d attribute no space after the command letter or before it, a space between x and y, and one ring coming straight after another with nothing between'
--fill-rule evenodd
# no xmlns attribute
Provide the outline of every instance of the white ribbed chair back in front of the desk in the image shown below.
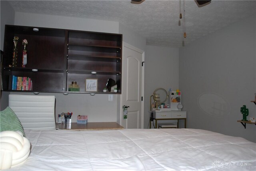
<svg viewBox="0 0 256 171"><path fill-rule="evenodd" d="M54 130L54 95L9 95L9 106L16 113L24 129Z"/></svg>

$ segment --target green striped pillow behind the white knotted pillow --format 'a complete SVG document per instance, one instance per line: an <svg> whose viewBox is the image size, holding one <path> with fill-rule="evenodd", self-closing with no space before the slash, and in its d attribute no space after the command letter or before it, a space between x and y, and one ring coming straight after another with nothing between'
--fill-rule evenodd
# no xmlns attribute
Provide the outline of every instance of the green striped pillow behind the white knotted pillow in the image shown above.
<svg viewBox="0 0 256 171"><path fill-rule="evenodd" d="M20 131L26 137L20 119L9 106L0 111L0 120L0 131Z"/></svg>

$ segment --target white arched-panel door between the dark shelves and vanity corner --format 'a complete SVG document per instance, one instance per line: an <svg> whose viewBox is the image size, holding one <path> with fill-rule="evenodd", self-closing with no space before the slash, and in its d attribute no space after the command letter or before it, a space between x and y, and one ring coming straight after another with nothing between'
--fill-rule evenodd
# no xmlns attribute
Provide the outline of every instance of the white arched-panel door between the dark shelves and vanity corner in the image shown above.
<svg viewBox="0 0 256 171"><path fill-rule="evenodd" d="M123 42L121 107L129 106L127 119L121 112L124 128L143 128L143 60L142 50Z"/></svg>

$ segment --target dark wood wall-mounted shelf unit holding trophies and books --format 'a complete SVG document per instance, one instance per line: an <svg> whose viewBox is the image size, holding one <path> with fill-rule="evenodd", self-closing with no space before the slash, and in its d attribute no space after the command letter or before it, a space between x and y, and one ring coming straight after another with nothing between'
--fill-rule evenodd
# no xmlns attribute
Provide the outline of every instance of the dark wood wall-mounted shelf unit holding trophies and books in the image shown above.
<svg viewBox="0 0 256 171"><path fill-rule="evenodd" d="M51 93L92 93L85 91L85 79L97 78L103 93L109 78L116 80L121 93L122 34L54 28L6 25L3 57L3 90L12 90L12 76L30 77L33 91ZM19 37L17 67L12 64L13 38ZM28 40L26 68L22 68L22 40ZM38 70L32 72L32 69ZM93 75L91 72L97 72ZM80 91L68 91L77 82ZM112 92L107 92L112 93Z"/></svg>

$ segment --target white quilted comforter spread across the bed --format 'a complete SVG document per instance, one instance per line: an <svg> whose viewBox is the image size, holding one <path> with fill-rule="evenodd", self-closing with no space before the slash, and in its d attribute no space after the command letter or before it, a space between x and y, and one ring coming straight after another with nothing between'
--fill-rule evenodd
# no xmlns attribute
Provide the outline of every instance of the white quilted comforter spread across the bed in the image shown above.
<svg viewBox="0 0 256 171"><path fill-rule="evenodd" d="M10 170L256 170L256 144L201 129L26 130L32 149Z"/></svg>

